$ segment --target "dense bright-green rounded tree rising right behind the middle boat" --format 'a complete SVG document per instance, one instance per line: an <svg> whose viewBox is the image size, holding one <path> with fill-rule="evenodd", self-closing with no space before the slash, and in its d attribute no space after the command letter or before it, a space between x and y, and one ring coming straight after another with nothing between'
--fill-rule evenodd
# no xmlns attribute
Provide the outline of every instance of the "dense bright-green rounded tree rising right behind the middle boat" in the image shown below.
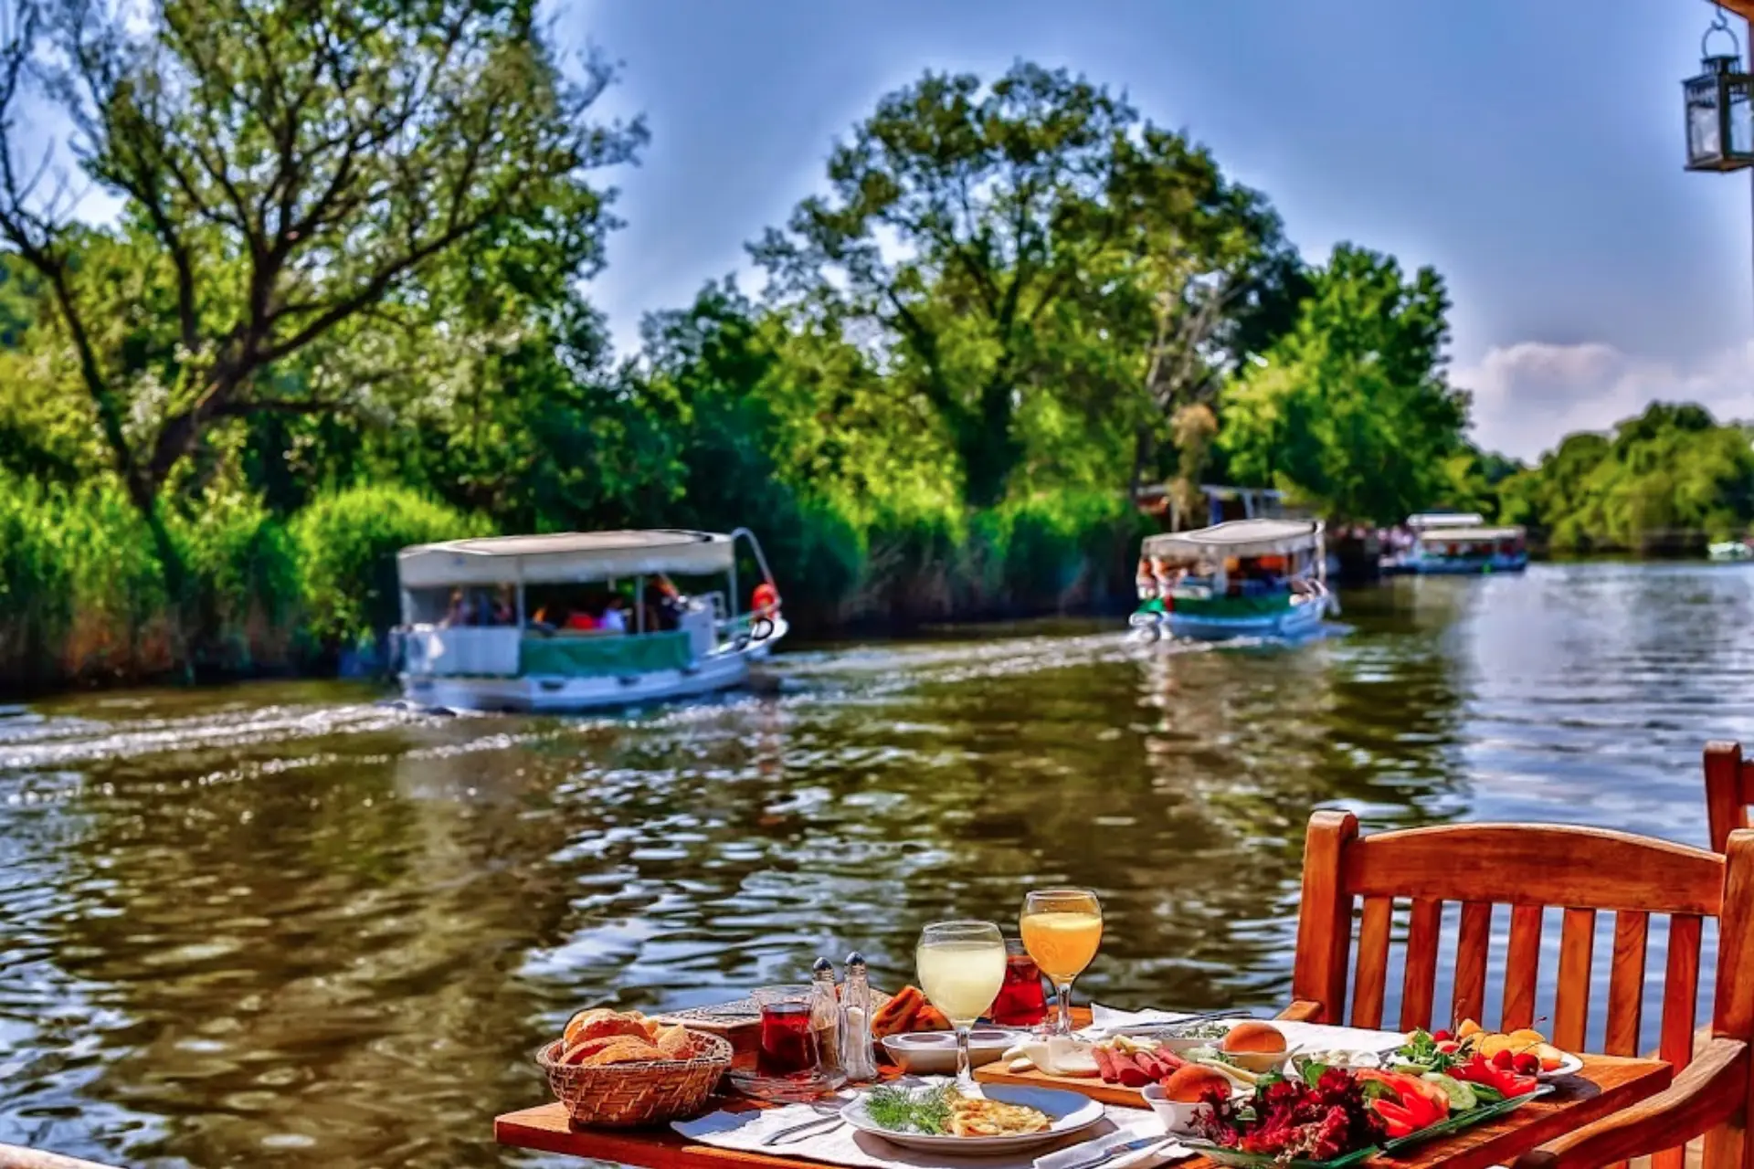
<svg viewBox="0 0 1754 1169"><path fill-rule="evenodd" d="M1312 284L1296 329L1224 391L1219 445L1242 482L1337 519L1400 521L1449 491L1468 424L1468 394L1444 375L1444 280L1342 244Z"/></svg>

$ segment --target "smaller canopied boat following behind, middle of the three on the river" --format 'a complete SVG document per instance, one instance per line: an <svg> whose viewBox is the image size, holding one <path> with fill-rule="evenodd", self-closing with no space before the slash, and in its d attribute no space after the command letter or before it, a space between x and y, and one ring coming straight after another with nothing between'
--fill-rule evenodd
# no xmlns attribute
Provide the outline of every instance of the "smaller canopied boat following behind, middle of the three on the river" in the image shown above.
<svg viewBox="0 0 1754 1169"><path fill-rule="evenodd" d="M1321 521L1238 519L1147 536L1130 624L1194 641L1300 638L1333 606L1326 571Z"/></svg>

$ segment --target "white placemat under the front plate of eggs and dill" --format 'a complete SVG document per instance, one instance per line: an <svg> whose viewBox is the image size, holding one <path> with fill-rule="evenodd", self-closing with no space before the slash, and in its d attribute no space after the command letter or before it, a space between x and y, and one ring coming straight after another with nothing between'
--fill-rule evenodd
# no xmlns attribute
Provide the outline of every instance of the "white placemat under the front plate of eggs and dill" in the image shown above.
<svg viewBox="0 0 1754 1169"><path fill-rule="evenodd" d="M831 1165L849 1165L851 1169L944 1169L945 1162L977 1165L979 1169L1065 1169L1094 1158L1103 1148L1121 1144L1144 1136L1159 1136L1163 1125L1158 1118L1138 1108L1105 1109L1107 1118L1094 1129L1066 1137L1066 1143L1044 1155L1012 1153L1005 1157L958 1157L947 1158L940 1151L924 1151L891 1144L879 1136L859 1132L849 1125L819 1129L803 1137L784 1137L781 1144L763 1144L775 1132L809 1120L819 1120L824 1113L809 1104L788 1104L784 1108L766 1108L758 1111L717 1111L700 1120L681 1120L672 1125L691 1141L712 1144L714 1148L735 1148L768 1157L802 1157ZM1102 1169L1152 1169L1170 1160L1191 1157L1180 1144L1147 1148L1126 1157L1117 1157Z"/></svg>

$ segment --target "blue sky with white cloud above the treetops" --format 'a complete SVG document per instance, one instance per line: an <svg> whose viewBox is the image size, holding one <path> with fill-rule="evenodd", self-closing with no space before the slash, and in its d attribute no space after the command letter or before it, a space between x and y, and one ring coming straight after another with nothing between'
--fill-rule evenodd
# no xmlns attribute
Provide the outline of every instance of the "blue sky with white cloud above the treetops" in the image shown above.
<svg viewBox="0 0 1754 1169"><path fill-rule="evenodd" d="M837 135L924 68L1017 58L1126 89L1268 193L1310 258L1435 265L1477 436L1531 457L1652 398L1754 417L1749 177L1680 166L1701 0L572 0L647 116L593 298L640 314L745 270ZM1745 26L1733 21L1745 40ZM1745 46L1743 46L1745 47Z"/></svg>

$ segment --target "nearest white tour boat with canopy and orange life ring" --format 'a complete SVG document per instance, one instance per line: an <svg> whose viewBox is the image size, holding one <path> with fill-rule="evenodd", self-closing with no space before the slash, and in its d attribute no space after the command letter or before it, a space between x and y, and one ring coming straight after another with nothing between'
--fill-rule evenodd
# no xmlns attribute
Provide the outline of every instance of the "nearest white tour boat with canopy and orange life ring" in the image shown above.
<svg viewBox="0 0 1754 1169"><path fill-rule="evenodd" d="M740 542L759 568L747 608ZM396 575L402 689L423 706L574 712L707 694L744 684L788 629L745 528L423 543L398 554Z"/></svg>

